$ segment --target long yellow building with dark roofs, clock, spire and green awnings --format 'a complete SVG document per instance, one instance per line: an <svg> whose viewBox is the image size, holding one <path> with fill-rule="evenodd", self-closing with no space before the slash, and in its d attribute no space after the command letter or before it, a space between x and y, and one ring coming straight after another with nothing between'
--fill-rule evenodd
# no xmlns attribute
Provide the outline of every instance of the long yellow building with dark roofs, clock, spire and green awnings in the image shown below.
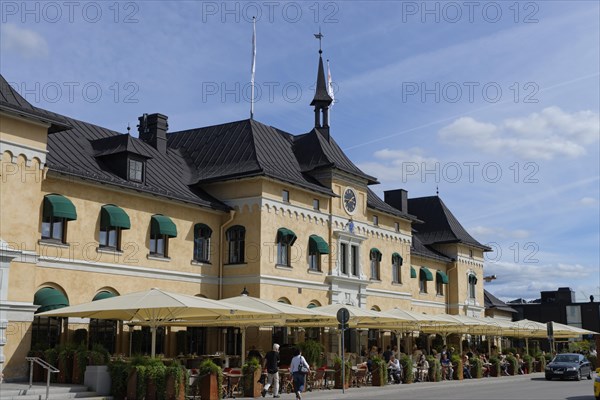
<svg viewBox="0 0 600 400"><path fill-rule="evenodd" d="M122 322L36 312L152 287L483 316L489 249L439 197L397 190L382 200L369 189L376 178L330 136L322 74L319 60L315 126L303 135L254 120L167 134L167 118L152 114L133 137L36 108L2 78L4 379L26 376L32 348L64 343L76 329L112 335L111 351L128 354L132 328ZM163 333L167 356L181 351L176 331ZM238 340L234 330L194 334L207 353ZM275 337L304 333L256 328L247 345L268 349Z"/></svg>

